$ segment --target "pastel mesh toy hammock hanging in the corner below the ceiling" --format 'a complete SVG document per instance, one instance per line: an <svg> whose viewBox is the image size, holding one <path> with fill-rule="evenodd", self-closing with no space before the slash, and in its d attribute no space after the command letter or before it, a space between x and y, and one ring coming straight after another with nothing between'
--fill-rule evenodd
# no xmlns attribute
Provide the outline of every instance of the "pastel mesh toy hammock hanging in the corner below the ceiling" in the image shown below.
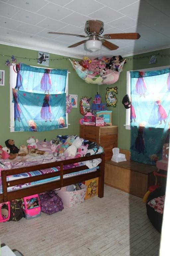
<svg viewBox="0 0 170 256"><path fill-rule="evenodd" d="M70 60L70 59L69 59ZM89 61L91 61L89 59ZM88 84L114 84L118 81L120 72L123 68L123 65L125 63L126 59L124 59L119 65L115 65L116 70L113 69L106 69L105 65L98 66L97 64L91 64L95 65L95 67L98 67L98 74L96 74L93 71L89 71L89 69L84 68L80 62L70 60L73 68L77 72L78 76L83 79ZM100 68L101 67L101 68ZM100 73L99 73L100 71ZM93 74L92 74L93 73Z"/></svg>

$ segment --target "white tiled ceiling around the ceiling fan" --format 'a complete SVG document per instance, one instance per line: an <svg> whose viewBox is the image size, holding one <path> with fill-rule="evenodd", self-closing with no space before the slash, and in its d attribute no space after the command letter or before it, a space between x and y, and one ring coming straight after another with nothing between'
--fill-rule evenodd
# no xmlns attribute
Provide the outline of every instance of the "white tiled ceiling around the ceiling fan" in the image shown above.
<svg viewBox="0 0 170 256"><path fill-rule="evenodd" d="M86 20L104 22L104 33L138 32L138 40L109 40L119 46L90 53L83 38ZM170 47L170 0L0 0L0 43L64 56L128 56Z"/></svg>

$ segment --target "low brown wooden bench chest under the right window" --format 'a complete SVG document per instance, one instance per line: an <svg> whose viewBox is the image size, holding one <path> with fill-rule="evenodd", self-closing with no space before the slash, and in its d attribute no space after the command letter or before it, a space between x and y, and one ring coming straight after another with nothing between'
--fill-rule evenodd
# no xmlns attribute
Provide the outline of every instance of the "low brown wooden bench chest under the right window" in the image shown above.
<svg viewBox="0 0 170 256"><path fill-rule="evenodd" d="M120 152L123 153L123 151ZM136 163L131 160L119 163L106 160L105 184L143 198L148 187L154 185L153 171L155 170L155 166Z"/></svg>

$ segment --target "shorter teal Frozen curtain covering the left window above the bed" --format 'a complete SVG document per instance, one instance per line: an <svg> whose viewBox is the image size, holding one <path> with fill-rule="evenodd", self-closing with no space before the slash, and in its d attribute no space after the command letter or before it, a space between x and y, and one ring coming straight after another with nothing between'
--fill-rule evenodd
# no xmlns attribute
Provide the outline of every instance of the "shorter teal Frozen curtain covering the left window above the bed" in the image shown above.
<svg viewBox="0 0 170 256"><path fill-rule="evenodd" d="M49 131L66 127L67 70L19 64L13 89L14 130Z"/></svg>

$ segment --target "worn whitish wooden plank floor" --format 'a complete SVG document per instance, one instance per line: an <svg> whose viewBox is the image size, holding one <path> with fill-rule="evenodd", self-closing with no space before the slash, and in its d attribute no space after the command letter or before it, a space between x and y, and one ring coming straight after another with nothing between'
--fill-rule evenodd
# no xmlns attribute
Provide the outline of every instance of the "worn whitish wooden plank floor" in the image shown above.
<svg viewBox="0 0 170 256"><path fill-rule="evenodd" d="M0 223L1 243L24 256L158 256L160 234L142 199L105 186L104 198L52 215Z"/></svg>

